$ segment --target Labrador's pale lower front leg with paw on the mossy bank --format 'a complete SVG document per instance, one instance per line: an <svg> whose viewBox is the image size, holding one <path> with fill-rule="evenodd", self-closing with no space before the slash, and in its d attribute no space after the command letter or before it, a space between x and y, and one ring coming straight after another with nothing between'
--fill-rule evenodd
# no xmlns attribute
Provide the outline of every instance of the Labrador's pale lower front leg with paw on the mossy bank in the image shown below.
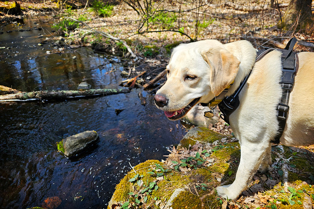
<svg viewBox="0 0 314 209"><path fill-rule="evenodd" d="M268 154L270 143L248 142L241 143L240 165L236 173L236 180L225 186L218 186L216 191L219 196L236 199L251 183L254 173L257 171L265 155Z"/></svg>

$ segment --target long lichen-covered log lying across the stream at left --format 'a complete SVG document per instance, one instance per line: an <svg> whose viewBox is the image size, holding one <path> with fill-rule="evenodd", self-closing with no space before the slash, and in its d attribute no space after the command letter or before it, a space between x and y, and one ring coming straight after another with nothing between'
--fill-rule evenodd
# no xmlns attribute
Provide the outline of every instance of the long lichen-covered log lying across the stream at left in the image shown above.
<svg viewBox="0 0 314 209"><path fill-rule="evenodd" d="M89 89L85 91L32 91L0 95L0 102L67 99L75 97L107 96L111 94L129 93L128 89Z"/></svg>

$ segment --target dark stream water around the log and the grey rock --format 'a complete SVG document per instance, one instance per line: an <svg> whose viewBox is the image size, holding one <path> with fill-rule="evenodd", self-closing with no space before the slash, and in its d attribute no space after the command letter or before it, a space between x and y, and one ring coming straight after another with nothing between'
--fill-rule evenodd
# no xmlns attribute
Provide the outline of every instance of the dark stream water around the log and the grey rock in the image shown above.
<svg viewBox="0 0 314 209"><path fill-rule="evenodd" d="M0 47L6 47L0 49L0 85L22 91L75 90L86 81L92 88L122 88L117 85L123 80L118 59L88 48L46 54L52 42L38 43L51 37L51 29L41 23L44 30L38 30L41 26L34 22L39 21L25 18L25 25L0 25ZM148 104L142 106L139 91L0 103L0 208L41 206L54 196L62 201L57 208L107 208L115 185L130 170L129 162L134 166L165 158L166 147L184 134L180 123L167 120L145 91ZM124 110L116 114L116 109ZM57 152L57 141L86 130L99 134L94 149L75 160Z"/></svg>

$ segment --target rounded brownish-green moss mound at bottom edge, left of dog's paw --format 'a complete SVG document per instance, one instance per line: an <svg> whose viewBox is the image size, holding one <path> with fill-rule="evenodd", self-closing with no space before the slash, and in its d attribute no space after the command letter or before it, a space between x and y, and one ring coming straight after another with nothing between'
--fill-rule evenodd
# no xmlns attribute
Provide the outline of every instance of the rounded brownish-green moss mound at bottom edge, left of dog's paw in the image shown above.
<svg viewBox="0 0 314 209"><path fill-rule="evenodd" d="M189 191L183 191L172 201L171 207L173 209L201 209L202 202L198 196Z"/></svg>

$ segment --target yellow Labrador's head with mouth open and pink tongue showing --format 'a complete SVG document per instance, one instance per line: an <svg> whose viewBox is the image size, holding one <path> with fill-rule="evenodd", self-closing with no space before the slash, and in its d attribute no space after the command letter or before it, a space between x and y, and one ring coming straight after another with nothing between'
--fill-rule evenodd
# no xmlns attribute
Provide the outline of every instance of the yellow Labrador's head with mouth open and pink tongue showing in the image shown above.
<svg viewBox="0 0 314 209"><path fill-rule="evenodd" d="M180 119L194 105L218 96L235 79L239 64L219 41L180 44L171 54L155 104L170 120Z"/></svg>

